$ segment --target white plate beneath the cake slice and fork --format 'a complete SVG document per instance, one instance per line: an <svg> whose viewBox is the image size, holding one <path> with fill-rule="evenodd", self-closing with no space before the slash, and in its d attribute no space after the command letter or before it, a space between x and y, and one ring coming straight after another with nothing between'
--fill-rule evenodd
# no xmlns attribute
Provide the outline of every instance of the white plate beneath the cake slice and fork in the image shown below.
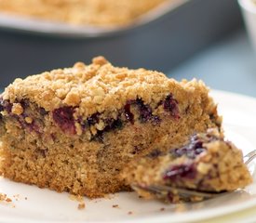
<svg viewBox="0 0 256 223"><path fill-rule="evenodd" d="M212 96L223 114L227 138L244 153L254 150L256 99L221 91L213 91ZM189 222L222 216L256 206L256 162L250 169L254 172L254 183L245 190L201 203L164 204L144 201L134 192L122 192L105 199L85 199L83 210L77 209L78 202L72 201L67 193L1 178L0 191L10 198L19 194L19 198L12 203L0 203L0 222ZM115 204L118 207L113 207ZM165 210L161 211L163 207Z"/></svg>

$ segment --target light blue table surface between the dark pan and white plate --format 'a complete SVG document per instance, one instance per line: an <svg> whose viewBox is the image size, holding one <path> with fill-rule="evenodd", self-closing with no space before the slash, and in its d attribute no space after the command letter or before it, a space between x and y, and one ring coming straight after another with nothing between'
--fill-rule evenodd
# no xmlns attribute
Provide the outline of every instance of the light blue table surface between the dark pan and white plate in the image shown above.
<svg viewBox="0 0 256 223"><path fill-rule="evenodd" d="M169 77L201 79L210 88L256 97L256 54L244 31L186 60Z"/></svg>

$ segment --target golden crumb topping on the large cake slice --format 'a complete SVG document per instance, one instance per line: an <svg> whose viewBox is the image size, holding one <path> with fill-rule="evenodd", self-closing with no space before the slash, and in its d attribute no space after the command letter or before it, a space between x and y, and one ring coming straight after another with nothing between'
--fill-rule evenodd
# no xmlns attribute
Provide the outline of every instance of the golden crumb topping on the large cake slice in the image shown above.
<svg viewBox="0 0 256 223"><path fill-rule="evenodd" d="M114 67L103 57L98 57L92 59L90 65L78 62L72 68L43 72L24 80L18 78L7 86L3 98L12 103L27 98L47 112L65 106L77 107L80 115L88 117L106 110L116 112L128 100L136 98L154 105L171 92L179 100L184 94L181 88L189 97L191 92L204 85L200 83L198 85L194 80L179 84L162 72ZM21 112L19 104L13 109L16 113Z"/></svg>

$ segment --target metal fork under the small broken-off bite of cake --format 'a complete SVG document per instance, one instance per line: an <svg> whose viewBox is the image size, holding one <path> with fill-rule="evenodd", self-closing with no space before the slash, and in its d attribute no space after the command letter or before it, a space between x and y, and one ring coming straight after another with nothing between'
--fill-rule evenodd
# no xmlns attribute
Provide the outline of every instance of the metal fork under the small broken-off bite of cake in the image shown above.
<svg viewBox="0 0 256 223"><path fill-rule="evenodd" d="M248 154L244 156L245 164L249 165L252 160L256 158L256 150L250 151ZM131 188L134 190L144 190L147 192L154 193L158 197L167 197L168 193L177 194L184 199L189 199L191 197L201 197L202 200L214 198L220 196L221 194L229 193L228 191L224 192L206 192L206 191L197 191L197 190L190 190L190 189L182 189L182 188L175 188L171 186L164 186L164 185L149 185L146 187L142 187L140 185L131 185Z"/></svg>

